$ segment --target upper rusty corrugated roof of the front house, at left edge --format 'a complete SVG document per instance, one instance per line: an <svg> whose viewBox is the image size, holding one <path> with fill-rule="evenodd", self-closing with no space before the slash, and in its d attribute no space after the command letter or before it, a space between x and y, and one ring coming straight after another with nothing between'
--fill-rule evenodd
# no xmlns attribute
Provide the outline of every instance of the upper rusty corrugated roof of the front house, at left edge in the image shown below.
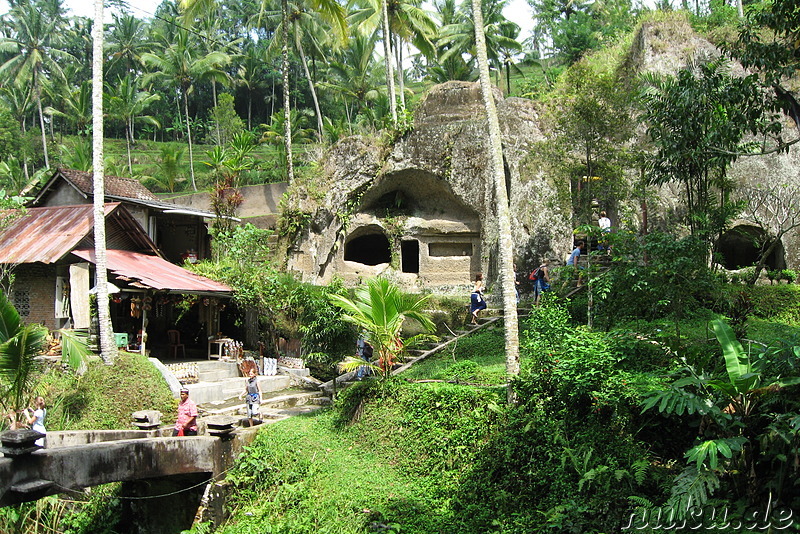
<svg viewBox="0 0 800 534"><path fill-rule="evenodd" d="M106 217L120 208L106 204ZM29 208L0 230L0 263L54 263L94 230L94 206Z"/></svg>

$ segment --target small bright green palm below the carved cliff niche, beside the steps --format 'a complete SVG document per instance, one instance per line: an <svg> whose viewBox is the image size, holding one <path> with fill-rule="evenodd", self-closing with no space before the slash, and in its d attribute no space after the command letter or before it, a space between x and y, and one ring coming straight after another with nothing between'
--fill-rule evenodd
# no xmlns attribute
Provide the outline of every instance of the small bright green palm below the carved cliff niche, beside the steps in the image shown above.
<svg viewBox="0 0 800 534"><path fill-rule="evenodd" d="M367 341L378 354L378 366L384 380L391 375L392 367L403 351L401 333L406 318L416 320L426 332L435 329L433 321L425 313L429 295L402 293L385 278L368 280L366 287L356 290L352 300L336 294L328 295L328 298L344 311L343 320L367 333ZM359 360L357 363L364 362Z"/></svg>

